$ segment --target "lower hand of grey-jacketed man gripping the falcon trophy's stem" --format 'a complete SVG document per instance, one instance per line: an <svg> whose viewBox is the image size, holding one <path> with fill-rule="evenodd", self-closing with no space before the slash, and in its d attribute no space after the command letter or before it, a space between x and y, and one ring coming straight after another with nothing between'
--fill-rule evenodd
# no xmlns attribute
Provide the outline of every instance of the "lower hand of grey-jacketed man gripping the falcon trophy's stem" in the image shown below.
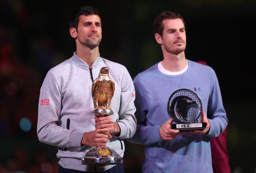
<svg viewBox="0 0 256 173"><path fill-rule="evenodd" d="M108 142L109 135L97 132L97 129L94 131L85 133L82 141L82 145L89 145L89 146L106 146Z"/></svg>

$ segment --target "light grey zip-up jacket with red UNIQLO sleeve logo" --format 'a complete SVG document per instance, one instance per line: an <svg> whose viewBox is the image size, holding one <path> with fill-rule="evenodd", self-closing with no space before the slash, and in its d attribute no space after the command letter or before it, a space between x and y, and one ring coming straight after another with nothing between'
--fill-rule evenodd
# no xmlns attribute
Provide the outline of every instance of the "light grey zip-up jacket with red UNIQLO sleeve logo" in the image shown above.
<svg viewBox="0 0 256 173"><path fill-rule="evenodd" d="M81 146L86 132L95 130L95 116L91 85L99 76L102 67L109 67L109 76L115 82L115 92L110 107L121 133L112 135L106 146L124 155L123 139L131 138L136 131L134 112L135 90L127 69L118 63L98 56L92 69L74 55L48 71L40 90L37 134L41 142L58 146L57 157L63 168L80 171L95 171L93 165L81 165L81 159L92 146ZM67 120L70 120L70 123ZM97 166L104 171L115 165Z"/></svg>

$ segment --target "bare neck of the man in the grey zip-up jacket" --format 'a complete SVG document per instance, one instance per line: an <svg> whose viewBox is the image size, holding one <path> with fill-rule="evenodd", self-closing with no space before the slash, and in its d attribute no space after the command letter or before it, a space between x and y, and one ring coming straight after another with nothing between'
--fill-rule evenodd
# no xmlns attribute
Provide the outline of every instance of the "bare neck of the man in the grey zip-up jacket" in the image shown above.
<svg viewBox="0 0 256 173"><path fill-rule="evenodd" d="M76 47L76 55L83 59L89 68L91 68L94 60L99 56L99 47L97 46L94 49Z"/></svg>

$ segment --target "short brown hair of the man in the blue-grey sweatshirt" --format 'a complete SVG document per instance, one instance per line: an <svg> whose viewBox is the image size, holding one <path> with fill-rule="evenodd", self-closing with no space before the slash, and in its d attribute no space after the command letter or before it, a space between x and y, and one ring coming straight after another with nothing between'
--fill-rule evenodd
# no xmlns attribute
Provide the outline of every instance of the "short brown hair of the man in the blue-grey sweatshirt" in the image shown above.
<svg viewBox="0 0 256 173"><path fill-rule="evenodd" d="M157 33L159 34L161 37L163 36L163 25L162 25L162 21L165 19L181 19L184 23L184 27L185 27L185 21L184 19L181 17L181 15L179 15L178 13L175 12L162 12L160 15L158 15L153 23L153 32L154 35Z"/></svg>

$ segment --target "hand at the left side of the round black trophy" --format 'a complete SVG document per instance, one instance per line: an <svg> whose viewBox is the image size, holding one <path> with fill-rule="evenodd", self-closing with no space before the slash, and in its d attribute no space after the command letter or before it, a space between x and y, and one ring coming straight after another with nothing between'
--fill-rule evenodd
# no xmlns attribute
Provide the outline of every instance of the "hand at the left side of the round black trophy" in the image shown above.
<svg viewBox="0 0 256 173"><path fill-rule="evenodd" d="M160 137L164 141L173 140L177 135L185 134L185 132L180 132L179 130L173 130L171 124L173 119L170 118L168 121L163 123L159 129Z"/></svg>

